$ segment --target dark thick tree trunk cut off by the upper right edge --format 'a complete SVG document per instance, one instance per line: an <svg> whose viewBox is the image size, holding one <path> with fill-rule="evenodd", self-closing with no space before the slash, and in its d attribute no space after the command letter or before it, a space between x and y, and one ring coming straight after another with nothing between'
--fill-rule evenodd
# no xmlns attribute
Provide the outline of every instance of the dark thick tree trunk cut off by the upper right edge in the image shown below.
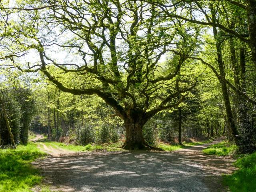
<svg viewBox="0 0 256 192"><path fill-rule="evenodd" d="M256 69L256 0L247 0L247 4L249 44L252 52L252 62Z"/></svg>

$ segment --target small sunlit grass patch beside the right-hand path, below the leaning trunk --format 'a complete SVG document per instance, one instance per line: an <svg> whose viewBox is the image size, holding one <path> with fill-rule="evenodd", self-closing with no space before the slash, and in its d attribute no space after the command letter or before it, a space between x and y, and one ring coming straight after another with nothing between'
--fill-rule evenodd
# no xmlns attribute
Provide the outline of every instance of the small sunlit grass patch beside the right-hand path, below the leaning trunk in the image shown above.
<svg viewBox="0 0 256 192"><path fill-rule="evenodd" d="M204 154L228 156L233 155L238 150L238 147L234 144L230 144L228 141L223 141L218 144L211 145L203 150Z"/></svg>

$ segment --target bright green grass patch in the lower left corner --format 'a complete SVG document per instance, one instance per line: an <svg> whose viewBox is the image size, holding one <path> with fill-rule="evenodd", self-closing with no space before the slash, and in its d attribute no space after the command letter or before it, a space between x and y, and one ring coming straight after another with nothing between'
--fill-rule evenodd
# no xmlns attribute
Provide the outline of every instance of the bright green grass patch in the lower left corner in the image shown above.
<svg viewBox="0 0 256 192"><path fill-rule="evenodd" d="M0 192L30 192L42 180L30 162L44 155L33 143L0 150Z"/></svg>

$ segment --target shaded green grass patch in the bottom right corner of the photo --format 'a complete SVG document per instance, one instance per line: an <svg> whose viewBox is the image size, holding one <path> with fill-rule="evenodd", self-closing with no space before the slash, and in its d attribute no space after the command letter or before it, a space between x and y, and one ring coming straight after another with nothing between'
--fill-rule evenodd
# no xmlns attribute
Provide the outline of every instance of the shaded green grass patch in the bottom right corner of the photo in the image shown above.
<svg viewBox="0 0 256 192"><path fill-rule="evenodd" d="M238 170L224 175L224 184L231 192L256 192L256 152L238 158L234 165Z"/></svg>

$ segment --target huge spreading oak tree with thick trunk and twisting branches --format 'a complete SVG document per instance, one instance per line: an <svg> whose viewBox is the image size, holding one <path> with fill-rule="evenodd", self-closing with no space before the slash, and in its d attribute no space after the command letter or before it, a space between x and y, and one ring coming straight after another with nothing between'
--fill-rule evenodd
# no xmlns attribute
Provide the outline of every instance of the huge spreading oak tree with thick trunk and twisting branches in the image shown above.
<svg viewBox="0 0 256 192"><path fill-rule="evenodd" d="M124 149L152 148L143 138L144 124L178 106L200 76L182 73L200 27L166 18L154 4L33 0L4 10L6 42L18 44L16 50L36 50L40 62L19 64L20 55L10 56L15 51L7 58L24 72L44 73L64 92L102 98L124 120Z"/></svg>

